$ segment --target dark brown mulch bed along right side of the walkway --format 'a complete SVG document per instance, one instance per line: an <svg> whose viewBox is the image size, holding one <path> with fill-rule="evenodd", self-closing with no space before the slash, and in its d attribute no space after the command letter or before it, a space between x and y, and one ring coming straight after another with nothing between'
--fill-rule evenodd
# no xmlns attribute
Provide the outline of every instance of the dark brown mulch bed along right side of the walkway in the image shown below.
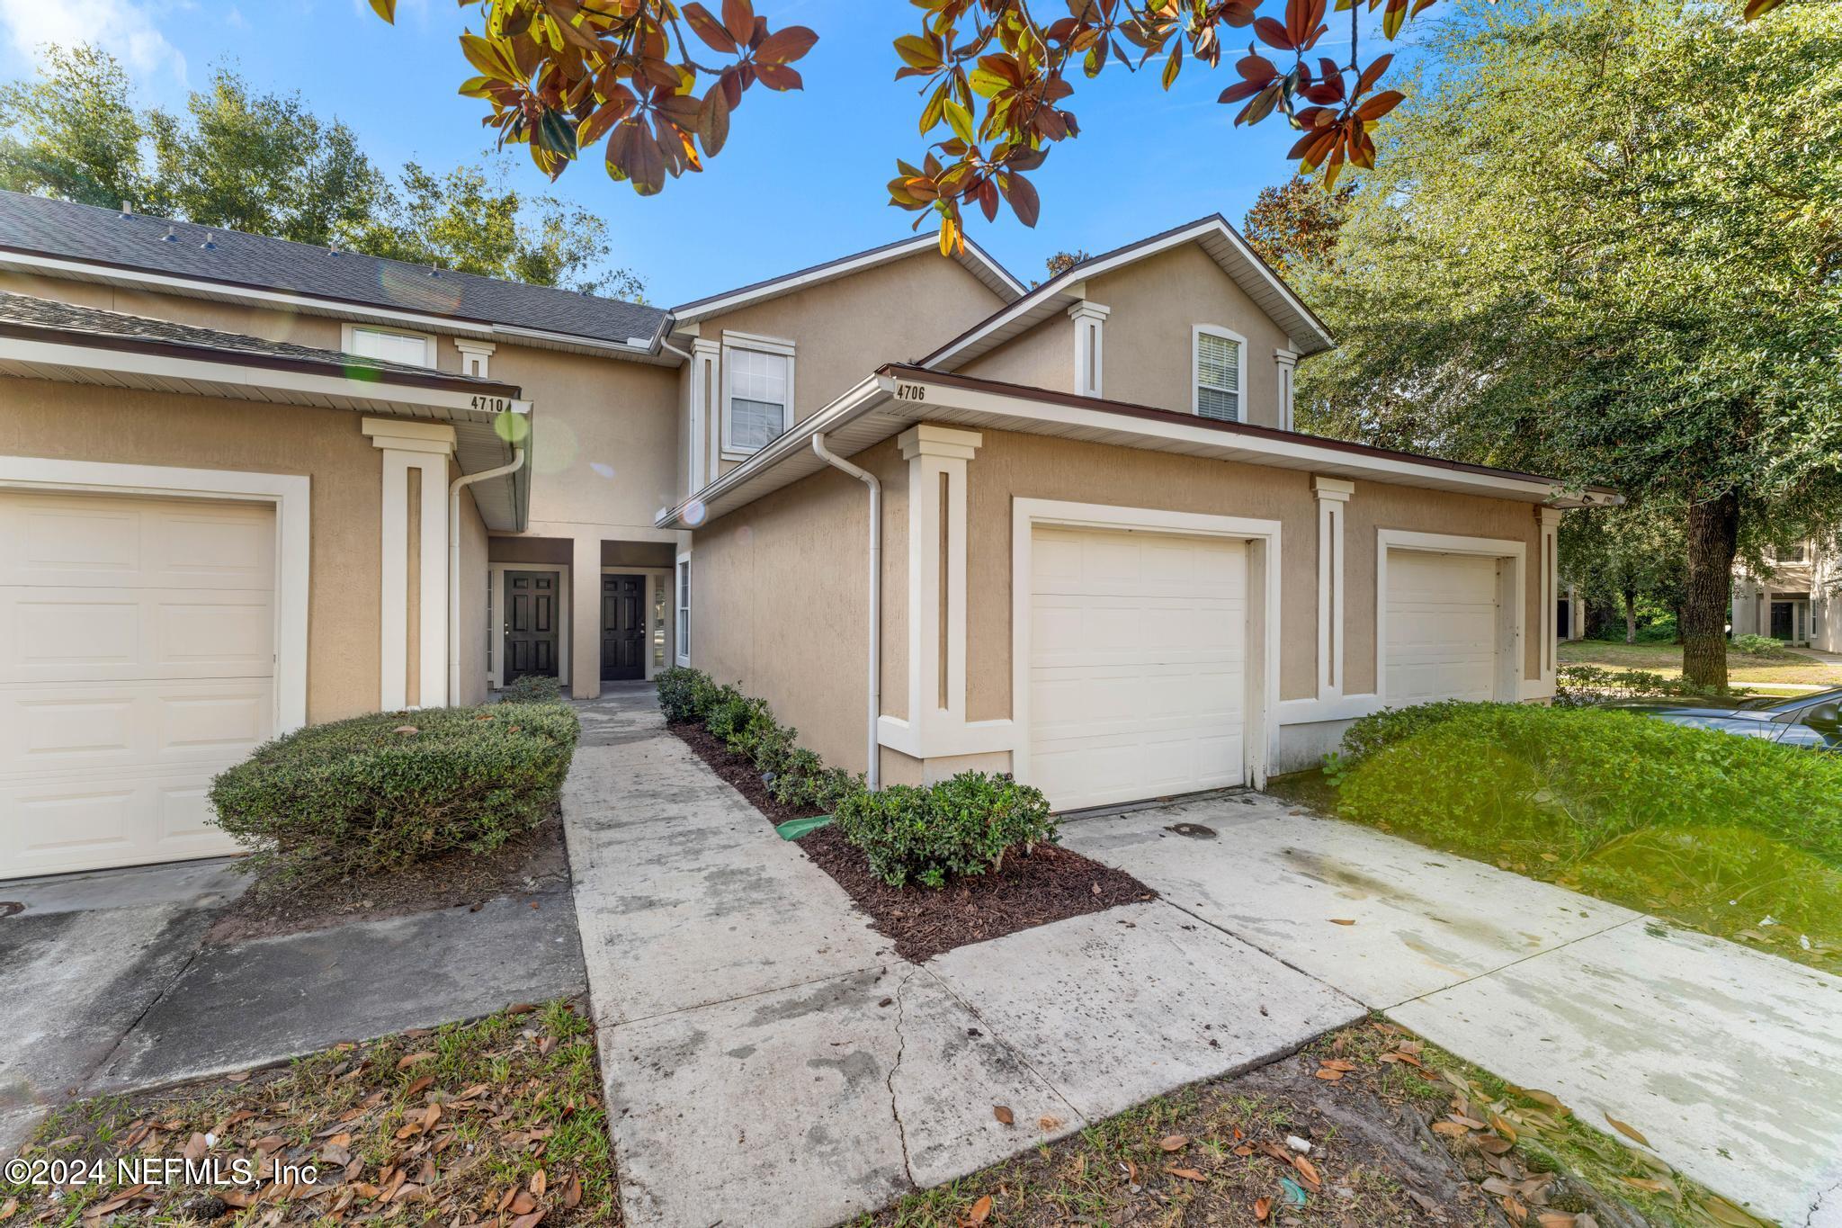
<svg viewBox="0 0 1842 1228"><path fill-rule="evenodd" d="M744 759L694 724L672 725L709 768L755 805L770 823L818 814L779 805ZM1037 845L1032 856L1004 858L997 875L960 878L941 889L892 887L869 873L864 854L836 827L799 840L799 849L869 913L877 932L895 941L895 954L921 963L934 956L1004 937L1019 930L1155 900L1157 891L1131 875L1059 845Z"/></svg>

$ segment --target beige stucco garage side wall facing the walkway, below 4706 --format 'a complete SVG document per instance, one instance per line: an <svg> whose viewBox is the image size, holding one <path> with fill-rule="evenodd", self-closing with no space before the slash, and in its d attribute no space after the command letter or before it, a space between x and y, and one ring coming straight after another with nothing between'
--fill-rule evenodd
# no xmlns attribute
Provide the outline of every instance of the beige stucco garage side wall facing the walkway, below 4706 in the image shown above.
<svg viewBox="0 0 1842 1228"><path fill-rule="evenodd" d="M858 457L882 481L882 711L906 712L906 471L893 444ZM691 665L737 683L825 762L866 770L864 484L829 469L715 521L691 545Z"/></svg>

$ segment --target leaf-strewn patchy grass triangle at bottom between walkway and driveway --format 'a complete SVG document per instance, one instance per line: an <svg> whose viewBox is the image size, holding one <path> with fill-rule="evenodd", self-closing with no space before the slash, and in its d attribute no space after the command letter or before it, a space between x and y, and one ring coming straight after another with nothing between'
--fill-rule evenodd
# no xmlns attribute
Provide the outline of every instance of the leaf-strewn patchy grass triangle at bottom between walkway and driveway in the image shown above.
<svg viewBox="0 0 1842 1228"><path fill-rule="evenodd" d="M1612 1228L1636 1222L1634 1213L1658 1228L1757 1222L1577 1121L1553 1095L1512 1088L1372 1020L910 1195L860 1224Z"/></svg>

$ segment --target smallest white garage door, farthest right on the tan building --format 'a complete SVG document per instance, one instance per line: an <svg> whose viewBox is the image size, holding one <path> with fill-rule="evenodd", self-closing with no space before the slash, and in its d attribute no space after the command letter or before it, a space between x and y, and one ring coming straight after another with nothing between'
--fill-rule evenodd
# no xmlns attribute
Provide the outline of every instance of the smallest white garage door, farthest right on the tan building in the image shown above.
<svg viewBox="0 0 1842 1228"><path fill-rule="evenodd" d="M1494 558L1389 550L1389 707L1494 700L1498 635Z"/></svg>

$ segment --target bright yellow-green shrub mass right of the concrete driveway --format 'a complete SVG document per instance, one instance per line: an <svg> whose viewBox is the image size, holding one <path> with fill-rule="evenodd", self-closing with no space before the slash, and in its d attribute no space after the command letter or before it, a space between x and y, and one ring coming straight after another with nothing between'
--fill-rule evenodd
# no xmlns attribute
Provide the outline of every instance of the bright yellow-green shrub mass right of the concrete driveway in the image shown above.
<svg viewBox="0 0 1842 1228"><path fill-rule="evenodd" d="M1610 709L1483 703L1370 753L1339 812L1488 860L1743 827L1842 867L1842 757Z"/></svg>

